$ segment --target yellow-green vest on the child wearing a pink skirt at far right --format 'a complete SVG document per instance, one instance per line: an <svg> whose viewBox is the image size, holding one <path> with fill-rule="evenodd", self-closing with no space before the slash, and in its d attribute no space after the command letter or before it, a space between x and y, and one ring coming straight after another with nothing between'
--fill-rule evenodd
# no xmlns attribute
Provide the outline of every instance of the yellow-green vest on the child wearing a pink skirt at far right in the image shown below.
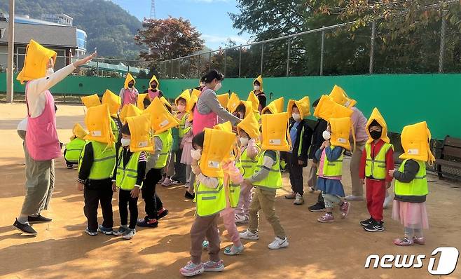
<svg viewBox="0 0 461 279"><path fill-rule="evenodd" d="M408 159L401 163L399 172L404 172L406 161ZM408 183L395 179L394 192L397 196L426 196L429 193L427 189L426 163L423 161L416 162L420 165L420 170L418 170L415 179Z"/></svg>

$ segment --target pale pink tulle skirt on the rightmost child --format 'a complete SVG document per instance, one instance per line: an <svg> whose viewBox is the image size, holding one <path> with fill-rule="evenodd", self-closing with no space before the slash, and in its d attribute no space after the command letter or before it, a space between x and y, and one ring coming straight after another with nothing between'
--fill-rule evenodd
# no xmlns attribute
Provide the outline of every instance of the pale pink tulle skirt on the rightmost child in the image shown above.
<svg viewBox="0 0 461 279"><path fill-rule="evenodd" d="M394 200L392 219L410 229L429 229L426 203L408 203Z"/></svg>

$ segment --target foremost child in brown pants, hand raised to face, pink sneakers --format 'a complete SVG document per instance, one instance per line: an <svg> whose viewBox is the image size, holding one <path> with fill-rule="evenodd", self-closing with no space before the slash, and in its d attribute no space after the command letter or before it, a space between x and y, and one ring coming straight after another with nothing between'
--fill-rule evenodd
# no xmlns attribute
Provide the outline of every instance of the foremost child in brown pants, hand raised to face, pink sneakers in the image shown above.
<svg viewBox="0 0 461 279"><path fill-rule="evenodd" d="M224 270L223 261L219 258L220 240L216 222L218 213L226 207L221 162L228 156L234 141L235 134L232 132L209 128L205 128L192 139L191 167L196 175L197 217L191 227L191 261L180 270L184 276ZM202 243L205 236L209 241L209 261L202 264Z"/></svg>

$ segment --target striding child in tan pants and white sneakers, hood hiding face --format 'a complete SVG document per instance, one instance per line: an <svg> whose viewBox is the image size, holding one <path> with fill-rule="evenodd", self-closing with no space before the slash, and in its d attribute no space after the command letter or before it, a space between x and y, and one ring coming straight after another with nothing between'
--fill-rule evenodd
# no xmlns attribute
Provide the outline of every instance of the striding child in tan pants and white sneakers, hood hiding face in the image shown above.
<svg viewBox="0 0 461 279"><path fill-rule="evenodd" d="M263 210L266 219L275 233L275 240L268 245L269 249L288 247L288 239L275 214L275 194L282 188L280 173L280 152L289 150L287 143L288 114L264 114L262 116L262 151L254 175L245 179L244 186L255 186L256 190L249 206L249 227L240 238L258 240L259 210ZM269 138L270 137L270 138Z"/></svg>

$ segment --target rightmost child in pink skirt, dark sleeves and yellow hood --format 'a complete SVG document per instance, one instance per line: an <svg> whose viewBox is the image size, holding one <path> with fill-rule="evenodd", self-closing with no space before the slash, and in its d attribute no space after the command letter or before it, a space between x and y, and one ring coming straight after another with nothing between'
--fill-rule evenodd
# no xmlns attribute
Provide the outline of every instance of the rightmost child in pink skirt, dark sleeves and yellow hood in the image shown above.
<svg viewBox="0 0 461 279"><path fill-rule="evenodd" d="M429 228L426 210L426 196L429 193L426 179L426 163L435 161L429 147L431 133L426 122L404 127L401 132L401 145L404 159L399 170L390 170L395 178L394 205L392 219L404 225L404 238L397 238L394 244L411 246L413 243L425 244L422 229Z"/></svg>

